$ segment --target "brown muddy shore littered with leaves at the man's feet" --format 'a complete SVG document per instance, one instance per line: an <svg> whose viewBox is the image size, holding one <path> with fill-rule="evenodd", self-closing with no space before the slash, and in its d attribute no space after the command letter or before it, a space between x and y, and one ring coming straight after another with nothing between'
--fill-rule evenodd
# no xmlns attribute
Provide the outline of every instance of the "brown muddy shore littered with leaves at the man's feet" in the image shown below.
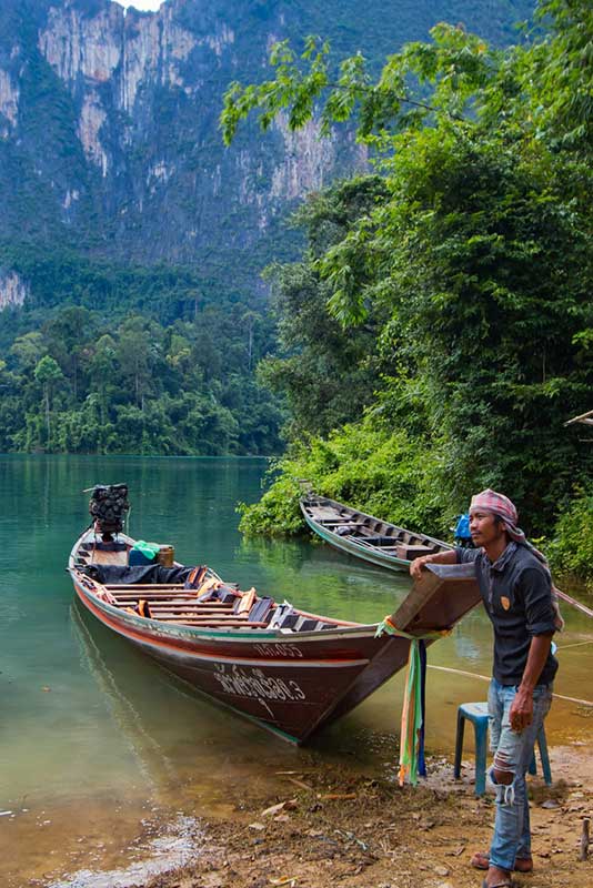
<svg viewBox="0 0 593 888"><path fill-rule="evenodd" d="M556 747L552 769L552 787L530 781L535 869L516 884L593 886L593 859L579 860L582 821L593 814L593 756ZM488 849L494 803L475 798L472 774L468 763L454 781L451 764L433 760L426 781L400 788L336 765L279 771L273 796L250 790L231 817L202 817L198 858L142 888L479 886L469 860Z"/></svg>

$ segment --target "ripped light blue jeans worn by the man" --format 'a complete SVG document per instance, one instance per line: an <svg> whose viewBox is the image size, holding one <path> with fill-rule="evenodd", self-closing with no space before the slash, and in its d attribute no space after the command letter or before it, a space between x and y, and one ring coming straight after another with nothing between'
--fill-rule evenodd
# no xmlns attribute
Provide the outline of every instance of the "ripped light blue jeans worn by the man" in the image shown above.
<svg viewBox="0 0 593 888"><path fill-rule="evenodd" d="M500 735L491 769L496 786L496 817L490 848L488 885L507 878L515 858L531 856L531 831L525 774L533 755L533 746L543 719L550 708L551 688L537 686L533 694L533 722L521 733L511 729L509 710L515 696L513 687L499 686L497 709L502 705Z"/></svg>

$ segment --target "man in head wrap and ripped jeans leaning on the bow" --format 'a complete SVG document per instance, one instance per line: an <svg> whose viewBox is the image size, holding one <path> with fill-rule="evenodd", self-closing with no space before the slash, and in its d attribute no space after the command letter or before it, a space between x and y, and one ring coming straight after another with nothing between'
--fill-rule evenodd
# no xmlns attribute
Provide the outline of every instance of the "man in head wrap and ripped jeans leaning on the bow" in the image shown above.
<svg viewBox="0 0 593 888"><path fill-rule="evenodd" d="M550 709L557 669L551 643L560 615L550 571L516 521L516 508L506 496L483 491L470 506L470 531L476 548L426 555L410 566L411 575L418 578L426 564L474 562L494 627L489 716L496 816L490 855L472 858L474 867L488 869L484 888L510 886L513 869L533 869L525 774Z"/></svg>

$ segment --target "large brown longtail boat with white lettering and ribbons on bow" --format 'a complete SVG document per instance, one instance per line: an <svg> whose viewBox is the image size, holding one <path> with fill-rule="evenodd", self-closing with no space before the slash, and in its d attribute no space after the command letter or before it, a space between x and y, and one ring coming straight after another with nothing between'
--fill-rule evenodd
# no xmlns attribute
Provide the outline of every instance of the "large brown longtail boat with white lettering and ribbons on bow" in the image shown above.
<svg viewBox="0 0 593 888"><path fill-rule="evenodd" d="M132 568L133 546L125 534L112 542L94 529L82 534L68 566L82 605L211 699L285 739L303 743L406 664L410 639L376 638L376 624L277 604L207 567ZM465 568L425 572L391 622L419 636L451 628L480 599ZM142 582L130 582L137 574ZM163 582L169 575L174 581ZM188 588L190 581L199 585Z"/></svg>

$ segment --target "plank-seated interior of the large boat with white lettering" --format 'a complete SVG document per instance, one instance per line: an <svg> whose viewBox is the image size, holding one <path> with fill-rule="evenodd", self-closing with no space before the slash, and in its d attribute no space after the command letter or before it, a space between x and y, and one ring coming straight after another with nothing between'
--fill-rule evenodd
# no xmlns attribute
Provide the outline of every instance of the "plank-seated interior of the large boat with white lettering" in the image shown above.
<svg viewBox="0 0 593 888"><path fill-rule="evenodd" d="M289 602L259 596L224 583L213 571L167 557L142 563L129 537L103 542L92 532L79 541L71 565L79 582L98 598L147 619L192 627L274 629L292 635L358 624L298 610ZM163 564L167 562L167 564ZM170 566L169 566L170 565Z"/></svg>

